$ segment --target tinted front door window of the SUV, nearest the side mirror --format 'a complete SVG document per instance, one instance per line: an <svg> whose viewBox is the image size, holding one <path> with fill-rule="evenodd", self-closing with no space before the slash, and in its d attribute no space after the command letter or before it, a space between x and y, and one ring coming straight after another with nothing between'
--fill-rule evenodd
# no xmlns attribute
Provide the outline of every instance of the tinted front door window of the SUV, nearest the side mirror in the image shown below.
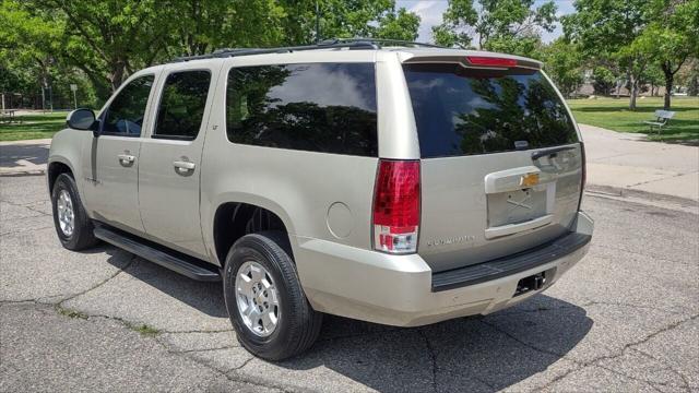
<svg viewBox="0 0 699 393"><path fill-rule="evenodd" d="M103 116L103 133L141 135L153 80L153 75L134 79L119 92Z"/></svg>

